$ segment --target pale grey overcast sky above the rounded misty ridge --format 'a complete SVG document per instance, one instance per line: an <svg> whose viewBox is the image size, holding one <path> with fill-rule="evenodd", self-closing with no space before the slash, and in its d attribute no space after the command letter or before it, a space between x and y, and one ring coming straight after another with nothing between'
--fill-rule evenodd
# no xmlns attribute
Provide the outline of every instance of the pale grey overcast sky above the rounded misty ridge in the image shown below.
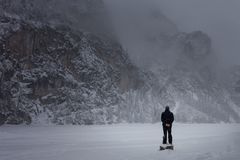
<svg viewBox="0 0 240 160"><path fill-rule="evenodd" d="M240 64L240 0L159 0L181 31L202 30L226 64Z"/></svg>

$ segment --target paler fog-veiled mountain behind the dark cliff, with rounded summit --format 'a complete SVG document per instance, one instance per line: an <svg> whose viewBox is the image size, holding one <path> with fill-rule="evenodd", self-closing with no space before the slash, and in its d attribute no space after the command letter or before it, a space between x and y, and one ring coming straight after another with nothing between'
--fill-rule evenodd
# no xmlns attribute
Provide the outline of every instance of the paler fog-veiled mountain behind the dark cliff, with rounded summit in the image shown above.
<svg viewBox="0 0 240 160"><path fill-rule="evenodd" d="M232 98L236 94L219 80L218 55L206 33L179 31L157 1L107 2L115 25L123 25L117 30L121 43L138 67L156 76L159 93L166 92L174 102L162 104L172 106L177 121L239 122L240 106Z"/></svg>

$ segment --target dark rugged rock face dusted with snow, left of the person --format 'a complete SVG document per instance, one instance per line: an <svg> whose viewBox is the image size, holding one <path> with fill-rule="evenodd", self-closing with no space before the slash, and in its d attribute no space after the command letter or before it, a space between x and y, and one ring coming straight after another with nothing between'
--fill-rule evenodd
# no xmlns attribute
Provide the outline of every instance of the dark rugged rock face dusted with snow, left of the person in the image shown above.
<svg viewBox="0 0 240 160"><path fill-rule="evenodd" d="M4 21L1 123L31 123L41 116L57 124L116 122L120 93L143 84L139 70L113 40Z"/></svg>

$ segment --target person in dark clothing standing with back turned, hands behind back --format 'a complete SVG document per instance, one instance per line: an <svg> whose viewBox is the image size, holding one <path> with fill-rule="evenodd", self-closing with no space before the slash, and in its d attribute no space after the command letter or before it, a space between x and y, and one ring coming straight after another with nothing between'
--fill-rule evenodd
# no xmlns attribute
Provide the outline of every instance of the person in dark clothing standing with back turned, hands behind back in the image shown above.
<svg viewBox="0 0 240 160"><path fill-rule="evenodd" d="M170 111L169 106L166 106L165 111L161 115L161 121L163 126L163 144L167 144L167 135L168 142L172 145L172 123L174 121L174 115Z"/></svg>

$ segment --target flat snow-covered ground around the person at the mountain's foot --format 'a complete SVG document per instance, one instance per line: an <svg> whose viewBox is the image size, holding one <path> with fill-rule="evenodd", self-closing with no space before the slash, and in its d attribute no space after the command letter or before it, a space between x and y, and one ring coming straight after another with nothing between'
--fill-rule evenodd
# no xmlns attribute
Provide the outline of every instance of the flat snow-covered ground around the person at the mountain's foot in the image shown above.
<svg viewBox="0 0 240 160"><path fill-rule="evenodd" d="M2 126L0 160L240 159L240 124L175 124L173 136L159 151L161 124Z"/></svg>

